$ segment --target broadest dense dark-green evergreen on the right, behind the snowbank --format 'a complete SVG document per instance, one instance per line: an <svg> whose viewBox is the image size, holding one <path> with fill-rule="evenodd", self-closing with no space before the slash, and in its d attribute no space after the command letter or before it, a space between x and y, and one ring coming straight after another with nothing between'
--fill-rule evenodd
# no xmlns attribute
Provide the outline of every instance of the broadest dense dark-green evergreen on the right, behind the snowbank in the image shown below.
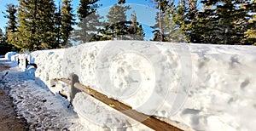
<svg viewBox="0 0 256 131"><path fill-rule="evenodd" d="M201 34L201 43L242 43L243 32L247 30L247 9L243 8L246 1L203 0L201 3L205 9L198 14L199 26L195 26L201 31L194 28L195 34Z"/></svg>

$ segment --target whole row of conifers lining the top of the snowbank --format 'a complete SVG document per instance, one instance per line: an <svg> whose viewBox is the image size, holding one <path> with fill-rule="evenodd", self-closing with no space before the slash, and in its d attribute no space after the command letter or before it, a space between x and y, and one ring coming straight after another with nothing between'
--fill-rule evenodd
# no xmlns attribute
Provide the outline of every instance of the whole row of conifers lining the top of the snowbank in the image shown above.
<svg viewBox="0 0 256 131"><path fill-rule="evenodd" d="M67 48L73 43L146 40L145 29L125 0L107 16L98 14L101 0L19 0L3 10L8 23L0 46L15 51ZM156 9L149 41L256 45L256 0L148 0ZM60 6L61 5L61 6ZM126 12L131 10L129 18ZM74 13L76 12L76 14ZM145 14L147 15L147 14ZM104 19L105 17L105 19Z"/></svg>

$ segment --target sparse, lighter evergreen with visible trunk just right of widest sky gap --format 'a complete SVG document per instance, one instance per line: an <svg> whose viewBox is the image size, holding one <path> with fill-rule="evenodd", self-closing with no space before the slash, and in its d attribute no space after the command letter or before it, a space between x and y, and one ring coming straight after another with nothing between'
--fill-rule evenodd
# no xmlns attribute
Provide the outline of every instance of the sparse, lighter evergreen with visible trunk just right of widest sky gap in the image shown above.
<svg viewBox="0 0 256 131"><path fill-rule="evenodd" d="M181 31L183 14L180 11L175 11L174 1L158 1L159 12L155 17L156 24L152 26L154 28L154 41L160 42L173 42L173 43L183 43L185 42L185 37L183 31ZM180 15L177 15L177 14ZM174 15L176 14L176 15ZM174 18L176 17L176 18ZM177 20L177 23L174 21Z"/></svg>

